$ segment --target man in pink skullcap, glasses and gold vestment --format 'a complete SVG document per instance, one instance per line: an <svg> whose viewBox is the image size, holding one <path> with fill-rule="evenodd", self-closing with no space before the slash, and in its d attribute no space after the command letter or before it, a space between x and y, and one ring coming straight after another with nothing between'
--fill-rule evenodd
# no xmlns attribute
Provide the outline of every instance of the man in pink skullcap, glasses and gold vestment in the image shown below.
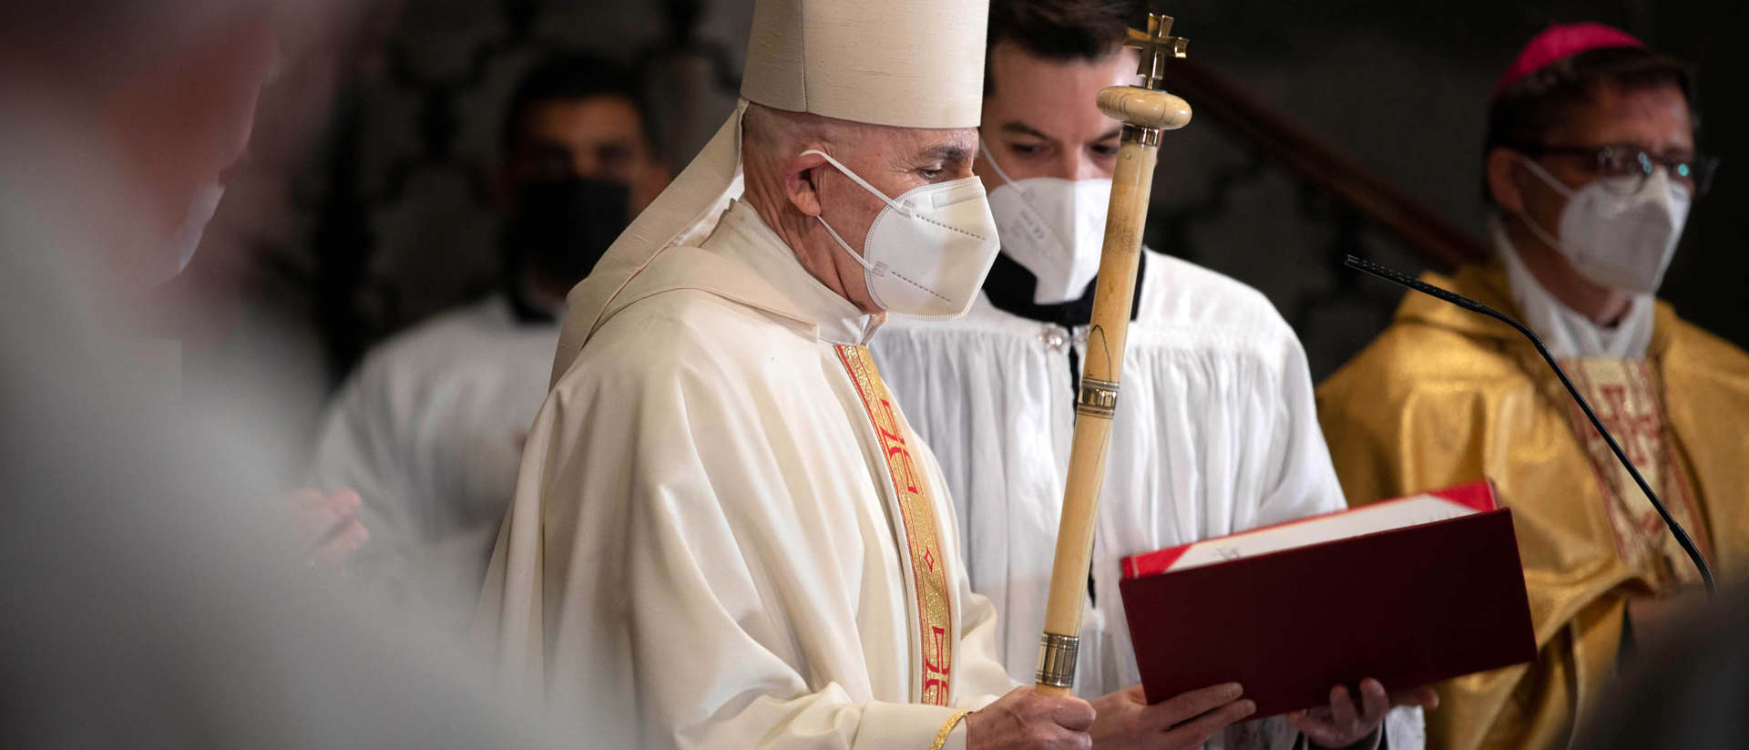
<svg viewBox="0 0 1749 750"><path fill-rule="evenodd" d="M1749 563L1749 357L1653 297L1691 201L1683 66L1609 26L1551 26L1488 108L1494 259L1429 283L1523 320L1721 575ZM1441 748L1564 747L1698 573L1555 374L1504 323L1408 294L1319 386L1350 502L1492 479L1513 509L1541 649L1439 687Z"/></svg>

